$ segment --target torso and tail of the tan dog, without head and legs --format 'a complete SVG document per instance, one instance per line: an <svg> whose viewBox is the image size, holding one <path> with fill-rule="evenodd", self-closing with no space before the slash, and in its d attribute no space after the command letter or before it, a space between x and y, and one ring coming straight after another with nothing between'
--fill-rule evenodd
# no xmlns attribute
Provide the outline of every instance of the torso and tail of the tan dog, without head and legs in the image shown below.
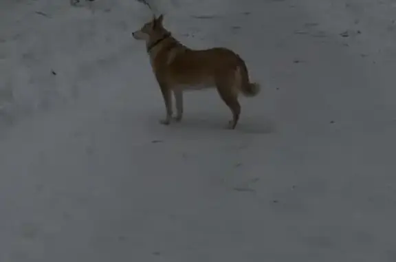
<svg viewBox="0 0 396 262"><path fill-rule="evenodd" d="M163 50L153 58L152 66L159 80L166 82L170 89L217 87L224 91L241 91L246 96L258 94L259 90L252 88L249 82L245 62L232 50L223 47L191 50L179 43L166 47L164 43Z"/></svg>

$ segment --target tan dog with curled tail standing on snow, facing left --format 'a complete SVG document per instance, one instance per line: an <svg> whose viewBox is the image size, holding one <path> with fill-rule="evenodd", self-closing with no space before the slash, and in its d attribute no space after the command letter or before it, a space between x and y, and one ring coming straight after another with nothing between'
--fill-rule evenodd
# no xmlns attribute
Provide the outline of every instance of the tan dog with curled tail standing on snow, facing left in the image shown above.
<svg viewBox="0 0 396 262"><path fill-rule="evenodd" d="M136 40L146 42L146 51L151 67L161 89L166 107L166 117L159 122L170 124L183 117L183 92L217 88L217 91L232 112L229 129L235 129L241 114L239 94L253 97L259 94L260 85L250 83L248 69L243 59L224 47L207 50L192 50L183 45L164 28L164 15L153 15L140 30L132 33ZM177 114L173 118L172 93Z"/></svg>

